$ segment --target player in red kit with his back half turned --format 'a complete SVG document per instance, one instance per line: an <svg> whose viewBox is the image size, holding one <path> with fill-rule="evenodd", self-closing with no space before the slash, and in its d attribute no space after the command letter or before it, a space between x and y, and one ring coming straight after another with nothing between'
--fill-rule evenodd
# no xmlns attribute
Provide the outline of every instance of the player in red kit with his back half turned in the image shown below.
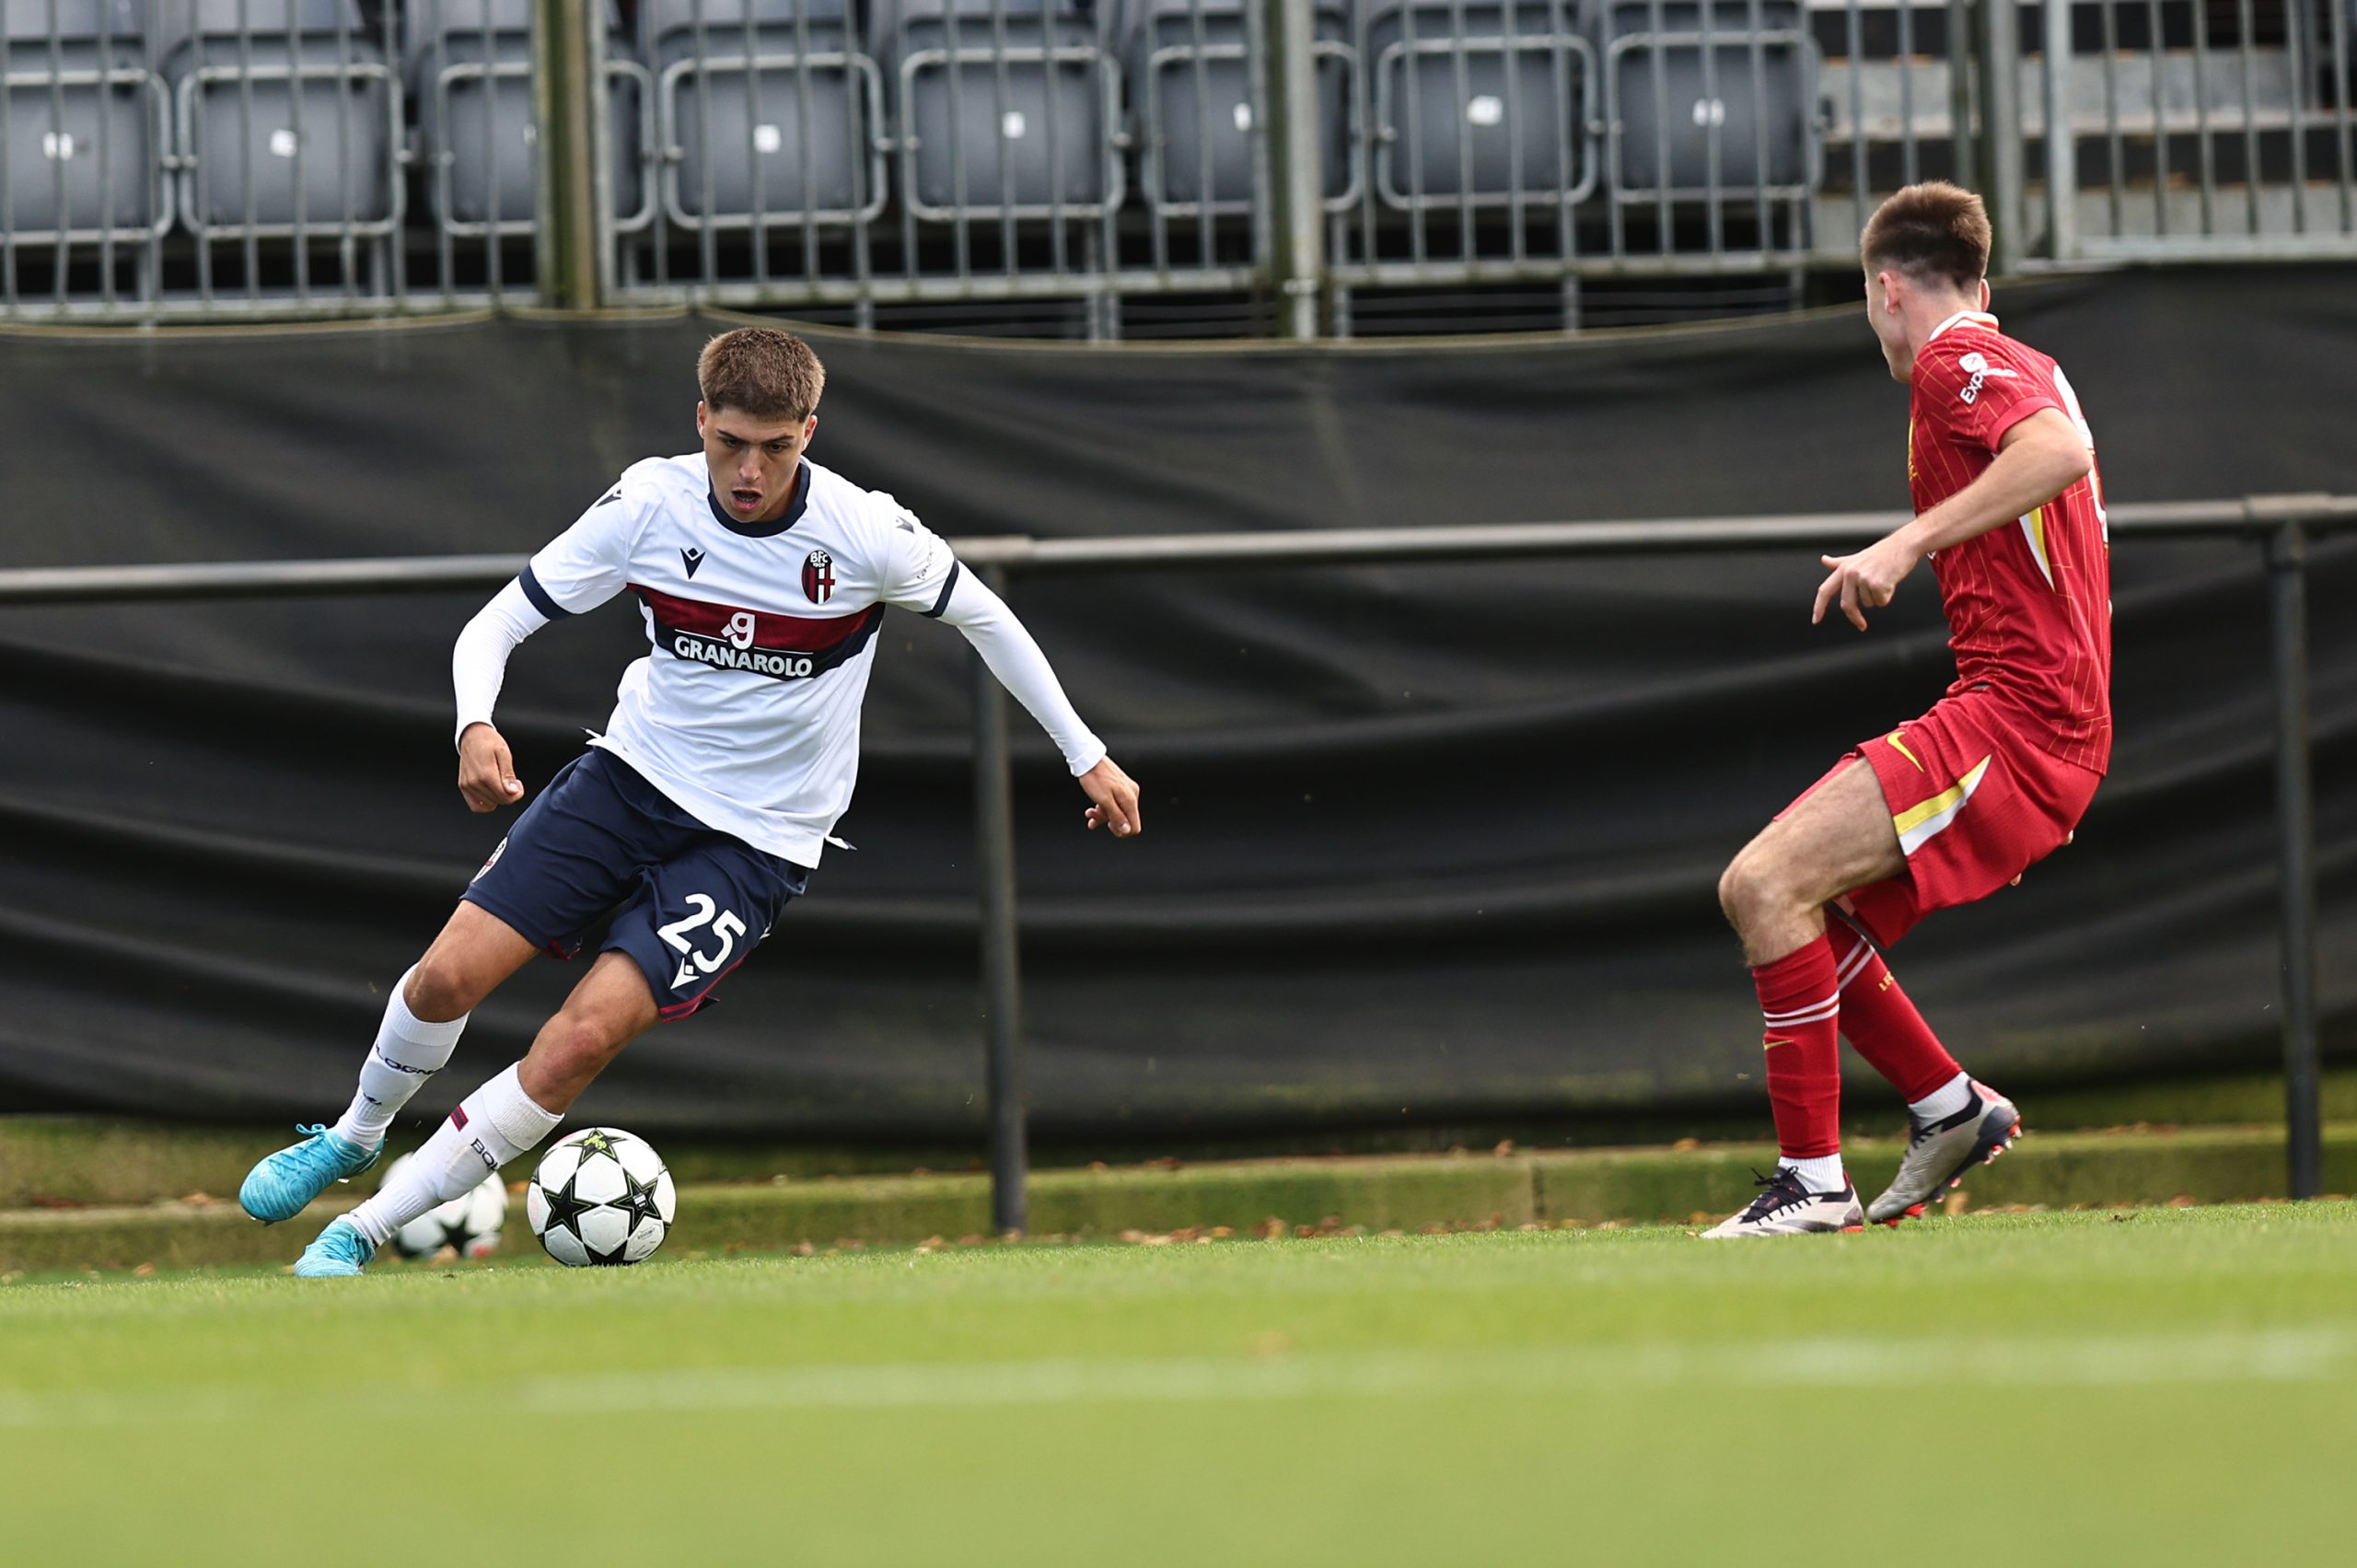
<svg viewBox="0 0 2357 1568"><path fill-rule="evenodd" d="M1923 1212L2020 1134L2020 1113L1923 1026L1881 950L1923 915L1985 898L2069 842L2112 755L2112 599L2095 439L2062 370L1989 316L1989 217L1933 182L1860 243L1867 318L1912 387L1916 516L1848 556L1810 620L1860 632L1919 561L1947 608L1956 681L1864 740L1718 882L1768 1023L1780 1160L1706 1236L1857 1231ZM1860 1207L1841 1170L1841 1042L1907 1099L1890 1191Z"/></svg>

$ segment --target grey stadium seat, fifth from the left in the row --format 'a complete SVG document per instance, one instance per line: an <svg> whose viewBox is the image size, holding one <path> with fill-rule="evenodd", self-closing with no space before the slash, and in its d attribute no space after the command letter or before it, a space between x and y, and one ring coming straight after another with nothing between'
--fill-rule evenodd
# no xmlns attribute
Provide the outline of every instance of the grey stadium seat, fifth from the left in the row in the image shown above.
<svg viewBox="0 0 2357 1568"><path fill-rule="evenodd" d="M1120 71L1080 0L877 0L917 217L1096 217L1122 200Z"/></svg>

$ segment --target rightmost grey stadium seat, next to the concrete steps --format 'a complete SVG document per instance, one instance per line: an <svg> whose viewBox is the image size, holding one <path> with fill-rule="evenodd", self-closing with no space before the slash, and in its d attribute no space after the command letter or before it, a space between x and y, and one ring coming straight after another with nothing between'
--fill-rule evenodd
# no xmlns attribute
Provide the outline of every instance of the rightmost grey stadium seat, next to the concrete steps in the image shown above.
<svg viewBox="0 0 2357 1568"><path fill-rule="evenodd" d="M1801 0L1596 0L1617 196L1796 196L1817 182L1817 42Z"/></svg>

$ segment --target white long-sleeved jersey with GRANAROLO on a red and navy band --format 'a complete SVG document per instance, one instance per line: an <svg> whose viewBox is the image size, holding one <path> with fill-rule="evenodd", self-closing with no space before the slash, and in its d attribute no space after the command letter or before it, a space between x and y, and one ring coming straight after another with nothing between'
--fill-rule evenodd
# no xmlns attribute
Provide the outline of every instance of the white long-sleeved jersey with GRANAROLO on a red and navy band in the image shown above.
<svg viewBox="0 0 2357 1568"><path fill-rule="evenodd" d="M457 733L490 722L516 644L620 592L639 597L653 648L592 743L797 865L818 865L851 806L889 604L964 632L1075 778L1105 755L1023 622L907 507L804 460L785 516L738 523L700 453L632 465L467 622L450 655Z"/></svg>

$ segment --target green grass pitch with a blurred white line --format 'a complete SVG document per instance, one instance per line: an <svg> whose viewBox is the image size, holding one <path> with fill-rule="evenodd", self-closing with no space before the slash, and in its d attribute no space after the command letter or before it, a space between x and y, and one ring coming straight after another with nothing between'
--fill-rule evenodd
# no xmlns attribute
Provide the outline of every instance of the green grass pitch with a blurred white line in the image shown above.
<svg viewBox="0 0 2357 1568"><path fill-rule="evenodd" d="M2352 1452L2348 1203L0 1287L28 1568L2348 1561Z"/></svg>

